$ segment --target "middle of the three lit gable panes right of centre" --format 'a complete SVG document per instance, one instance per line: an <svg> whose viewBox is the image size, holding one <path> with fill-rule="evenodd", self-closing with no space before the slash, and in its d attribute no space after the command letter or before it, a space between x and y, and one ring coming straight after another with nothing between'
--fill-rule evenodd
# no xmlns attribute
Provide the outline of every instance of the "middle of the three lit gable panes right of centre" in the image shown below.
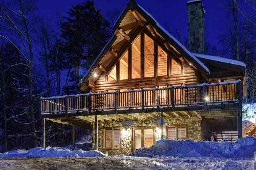
<svg viewBox="0 0 256 170"><path fill-rule="evenodd" d="M157 76L167 75L167 53L158 46L157 47Z"/></svg>

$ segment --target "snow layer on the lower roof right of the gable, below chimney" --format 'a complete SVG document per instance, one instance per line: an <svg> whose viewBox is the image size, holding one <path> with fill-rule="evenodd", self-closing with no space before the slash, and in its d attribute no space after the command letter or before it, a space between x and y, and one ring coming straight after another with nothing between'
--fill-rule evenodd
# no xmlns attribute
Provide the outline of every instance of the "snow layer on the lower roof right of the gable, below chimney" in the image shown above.
<svg viewBox="0 0 256 170"><path fill-rule="evenodd" d="M238 60L233 60L233 59L224 58L224 57L220 57L220 56L197 54L197 53L194 53L194 55L198 58L203 58L203 59L207 59L207 60L218 61L218 62L222 62L222 63L227 63L227 64L233 64L233 65L239 65L239 66L242 66L242 67L246 67L244 62L238 61Z"/></svg>

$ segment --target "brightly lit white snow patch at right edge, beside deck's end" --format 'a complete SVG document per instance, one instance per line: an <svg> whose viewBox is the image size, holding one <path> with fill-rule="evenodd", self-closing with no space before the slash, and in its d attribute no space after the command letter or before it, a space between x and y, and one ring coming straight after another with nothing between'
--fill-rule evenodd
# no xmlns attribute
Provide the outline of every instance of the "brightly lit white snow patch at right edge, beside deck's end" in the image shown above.
<svg viewBox="0 0 256 170"><path fill-rule="evenodd" d="M243 119L256 123L256 103L247 103L243 105Z"/></svg>

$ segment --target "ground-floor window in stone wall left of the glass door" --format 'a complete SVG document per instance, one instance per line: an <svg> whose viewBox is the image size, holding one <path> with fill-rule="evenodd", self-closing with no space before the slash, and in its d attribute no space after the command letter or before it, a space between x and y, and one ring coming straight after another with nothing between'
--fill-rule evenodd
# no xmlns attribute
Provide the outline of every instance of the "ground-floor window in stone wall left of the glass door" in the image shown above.
<svg viewBox="0 0 256 170"><path fill-rule="evenodd" d="M121 142L120 128L104 129L104 149L119 149Z"/></svg>

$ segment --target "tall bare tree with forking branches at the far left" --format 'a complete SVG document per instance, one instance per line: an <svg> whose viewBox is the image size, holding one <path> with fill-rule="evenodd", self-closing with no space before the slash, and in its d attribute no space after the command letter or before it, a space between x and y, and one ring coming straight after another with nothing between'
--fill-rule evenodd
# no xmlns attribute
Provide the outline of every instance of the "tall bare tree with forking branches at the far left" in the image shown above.
<svg viewBox="0 0 256 170"><path fill-rule="evenodd" d="M6 41L9 41L18 51L19 53L25 58L28 66L28 96L29 96L29 115L30 115L30 125L31 125L31 132L33 136L33 145L37 146L36 141L36 127L35 127L35 118L34 118L34 96L33 96L33 80L32 80L32 73L33 73L33 50L32 50L32 40L29 28L29 20L28 13L32 12L32 1L28 1L28 6L24 5L24 1L18 0L15 1L14 5L17 5L17 10L12 10L7 6L0 6L1 11L1 19L5 19L7 23L9 23L10 27L16 33L19 43L22 45L23 50L20 50L14 43L14 40L8 38L5 35L0 35L1 38L4 38ZM26 7L26 8L24 8Z"/></svg>

